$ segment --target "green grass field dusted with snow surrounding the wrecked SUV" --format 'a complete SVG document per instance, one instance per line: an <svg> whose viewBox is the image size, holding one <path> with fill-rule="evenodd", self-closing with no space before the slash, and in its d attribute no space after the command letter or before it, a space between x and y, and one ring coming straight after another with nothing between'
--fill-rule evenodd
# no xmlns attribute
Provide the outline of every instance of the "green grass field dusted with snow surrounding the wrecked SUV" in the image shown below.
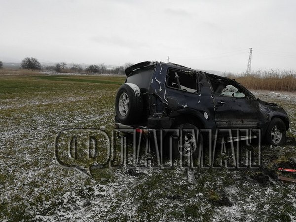
<svg viewBox="0 0 296 222"><path fill-rule="evenodd" d="M122 166L97 170L94 178L61 167L56 135L66 128L111 133L123 82L118 76L0 75L0 221L296 220L296 185L273 177L277 166L296 167L295 94L255 93L282 105L291 120L284 147L262 147L261 170L196 169L191 185L178 167Z"/></svg>

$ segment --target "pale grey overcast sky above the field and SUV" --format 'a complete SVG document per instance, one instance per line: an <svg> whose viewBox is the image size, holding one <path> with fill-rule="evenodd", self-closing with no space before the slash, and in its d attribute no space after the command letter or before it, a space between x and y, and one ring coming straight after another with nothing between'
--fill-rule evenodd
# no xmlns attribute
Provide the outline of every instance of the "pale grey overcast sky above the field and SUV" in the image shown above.
<svg viewBox="0 0 296 222"><path fill-rule="evenodd" d="M0 60L296 70L296 0L0 0Z"/></svg>

